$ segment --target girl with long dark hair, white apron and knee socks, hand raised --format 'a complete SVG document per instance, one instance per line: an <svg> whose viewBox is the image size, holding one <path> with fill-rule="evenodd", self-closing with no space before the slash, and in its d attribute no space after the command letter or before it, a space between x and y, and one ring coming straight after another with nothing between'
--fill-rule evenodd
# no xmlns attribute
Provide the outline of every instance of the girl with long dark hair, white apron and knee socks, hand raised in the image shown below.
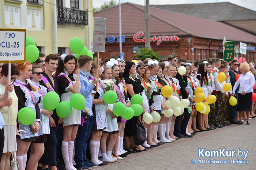
<svg viewBox="0 0 256 170"><path fill-rule="evenodd" d="M80 68L77 67L76 57L73 55L62 54L61 59L55 73L59 80L59 90L61 94L61 101L70 102L70 98L75 93L80 93L81 85ZM76 74L73 72L76 71ZM61 151L67 170L76 170L73 166L73 150L78 125L81 124L81 111L75 110L72 107L71 113L63 118L63 141Z"/></svg>

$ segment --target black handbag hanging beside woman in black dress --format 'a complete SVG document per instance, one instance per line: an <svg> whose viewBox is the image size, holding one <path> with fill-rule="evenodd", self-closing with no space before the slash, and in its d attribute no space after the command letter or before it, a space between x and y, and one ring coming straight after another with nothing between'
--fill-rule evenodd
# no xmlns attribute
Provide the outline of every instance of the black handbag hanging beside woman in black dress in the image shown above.
<svg viewBox="0 0 256 170"><path fill-rule="evenodd" d="M144 125L140 122L138 117L138 123L136 124L136 131L134 135L134 140L136 145L142 145L147 139L147 132Z"/></svg>

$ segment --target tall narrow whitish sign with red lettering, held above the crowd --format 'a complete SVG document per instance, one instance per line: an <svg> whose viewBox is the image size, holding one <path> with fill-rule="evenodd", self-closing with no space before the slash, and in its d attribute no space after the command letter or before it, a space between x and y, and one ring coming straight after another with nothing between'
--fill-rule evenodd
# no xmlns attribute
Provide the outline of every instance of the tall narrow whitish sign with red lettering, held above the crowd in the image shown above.
<svg viewBox="0 0 256 170"><path fill-rule="evenodd" d="M106 18L93 17L93 51L104 52L106 41Z"/></svg>

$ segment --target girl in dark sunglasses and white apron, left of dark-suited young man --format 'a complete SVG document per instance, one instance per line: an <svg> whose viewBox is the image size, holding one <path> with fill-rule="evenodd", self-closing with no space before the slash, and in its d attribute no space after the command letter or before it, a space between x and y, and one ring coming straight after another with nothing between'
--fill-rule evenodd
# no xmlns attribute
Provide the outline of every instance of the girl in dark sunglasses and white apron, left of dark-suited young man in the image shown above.
<svg viewBox="0 0 256 170"><path fill-rule="evenodd" d="M33 86L36 91L40 94L40 102L38 106L40 108L40 128L38 131L38 138L31 143L31 152L30 156L34 153L44 153L44 143L47 142L47 134L50 134L50 126L49 126L49 115L52 115L52 111L46 110L44 108L43 99L45 94L47 93L47 89L39 84L39 81L42 80L42 76L44 72L40 66L34 66L32 68L32 80ZM37 170L37 164L34 167L34 170Z"/></svg>

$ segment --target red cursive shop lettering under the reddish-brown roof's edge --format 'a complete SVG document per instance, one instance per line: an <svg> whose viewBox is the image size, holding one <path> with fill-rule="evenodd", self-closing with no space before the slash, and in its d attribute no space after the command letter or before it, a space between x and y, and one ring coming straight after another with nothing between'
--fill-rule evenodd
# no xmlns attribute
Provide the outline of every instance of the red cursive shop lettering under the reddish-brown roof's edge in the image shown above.
<svg viewBox="0 0 256 170"><path fill-rule="evenodd" d="M144 35L144 32L139 31L137 33L135 33L133 35L133 40L137 43L141 43L141 42L145 42L146 37L142 37ZM159 46L159 44L161 44L162 41L178 41L180 39L180 37L176 36L176 35L162 35L162 36L153 36L152 38L150 38L150 42L155 42L157 41L157 45Z"/></svg>

